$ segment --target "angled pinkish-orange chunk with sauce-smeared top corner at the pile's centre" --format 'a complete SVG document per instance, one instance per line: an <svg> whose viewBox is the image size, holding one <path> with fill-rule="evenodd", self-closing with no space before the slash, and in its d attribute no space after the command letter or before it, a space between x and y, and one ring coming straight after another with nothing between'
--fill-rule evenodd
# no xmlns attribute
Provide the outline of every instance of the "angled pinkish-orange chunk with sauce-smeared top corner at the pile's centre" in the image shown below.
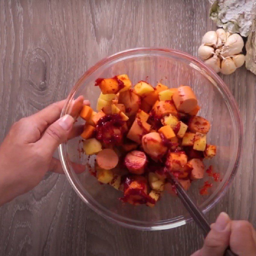
<svg viewBox="0 0 256 256"><path fill-rule="evenodd" d="M150 128L150 124L146 122L141 122L139 119L136 118L126 137L141 144L142 136L148 133Z"/></svg>

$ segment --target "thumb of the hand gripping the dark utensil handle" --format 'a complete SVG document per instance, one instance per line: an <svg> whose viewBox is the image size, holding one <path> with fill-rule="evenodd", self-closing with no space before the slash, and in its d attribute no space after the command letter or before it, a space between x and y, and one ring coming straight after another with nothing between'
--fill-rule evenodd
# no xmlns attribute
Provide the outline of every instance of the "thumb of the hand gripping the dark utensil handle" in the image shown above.
<svg viewBox="0 0 256 256"><path fill-rule="evenodd" d="M216 222L211 225L211 231L205 238L201 249L202 256L222 256L229 244L231 220L228 214L221 212Z"/></svg>

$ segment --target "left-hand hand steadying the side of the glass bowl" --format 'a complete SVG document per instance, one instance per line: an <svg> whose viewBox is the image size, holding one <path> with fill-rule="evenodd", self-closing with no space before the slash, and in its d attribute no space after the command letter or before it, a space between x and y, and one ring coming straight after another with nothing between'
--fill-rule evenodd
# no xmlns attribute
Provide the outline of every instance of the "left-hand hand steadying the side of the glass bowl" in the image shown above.
<svg viewBox="0 0 256 256"><path fill-rule="evenodd" d="M82 133L82 125L73 126L74 117L89 101L78 97L72 104L73 117L59 119L64 103L53 103L12 125L0 146L0 205L34 188L47 171L63 173L52 155L60 143ZM74 165L76 172L85 170L84 165Z"/></svg>

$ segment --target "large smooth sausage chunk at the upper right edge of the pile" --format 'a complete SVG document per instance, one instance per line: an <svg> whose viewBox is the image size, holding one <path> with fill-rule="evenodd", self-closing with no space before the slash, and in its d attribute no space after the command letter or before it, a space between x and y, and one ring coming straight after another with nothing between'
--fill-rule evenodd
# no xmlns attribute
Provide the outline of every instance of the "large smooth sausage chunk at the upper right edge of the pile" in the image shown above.
<svg viewBox="0 0 256 256"><path fill-rule="evenodd" d="M197 106L196 95L190 86L180 86L172 95L172 100L178 111L184 113L190 113Z"/></svg>

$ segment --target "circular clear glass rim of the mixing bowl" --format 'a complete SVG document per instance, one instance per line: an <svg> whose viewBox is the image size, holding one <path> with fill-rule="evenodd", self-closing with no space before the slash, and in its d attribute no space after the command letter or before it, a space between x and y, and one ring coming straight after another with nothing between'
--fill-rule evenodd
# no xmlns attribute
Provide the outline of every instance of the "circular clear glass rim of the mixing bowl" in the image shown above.
<svg viewBox="0 0 256 256"><path fill-rule="evenodd" d="M169 48L158 48L158 47L138 47L138 48L131 48L131 49L127 49L124 51L120 51L117 53L114 53L108 57L105 57L103 59L101 59L100 61L98 61L96 64L94 64L91 68L89 68L87 71L84 72L84 74L79 78L79 80L76 82L76 84L73 86L72 90L70 91L65 105L62 109L61 112L61 117L65 114L65 111L67 109L68 106L68 102L71 100L72 96L74 95L74 93L76 92L76 89L80 86L81 83L83 83L84 79L89 76L90 74L92 74L95 70L97 70L97 68L99 68L100 66L104 65L105 63L114 60L114 59L118 59L119 57L125 55L125 54L131 54L132 52L139 52L139 51L164 51L164 52L169 52L172 53L174 55L183 57L187 60L191 60L191 62L196 63L197 65L201 66L202 68L204 68L204 70L211 75L211 77L214 78L214 80L218 83L218 87L221 87L222 92L224 92L225 96L228 98L229 100L229 105L233 110L233 116L237 119L237 129L238 129L238 150L237 150L237 155L236 155L236 160L234 162L234 167L233 170L231 172L231 175L229 176L229 178L226 181L226 185L223 186L222 189L220 189L219 193L220 195L217 196L214 200L212 200L212 202L207 205L202 211L204 213L208 212L210 209L212 209L212 207L214 205L216 205L220 199L225 195L226 191L228 190L229 186L231 185L232 181L234 180L234 177L236 175L237 169L239 167L240 161L241 161L241 156L242 156L242 151L243 151L243 124L242 124L242 120L240 117L240 113L239 113L239 109L236 103L236 100L233 97L233 94L230 92L228 86L224 83L224 81L220 78L220 76L218 76L218 74L213 71L211 68L208 68L204 62L202 62L201 60L198 60L196 57L186 53L186 52L182 52L179 50L174 50L174 49L169 49ZM220 86L219 86L220 85ZM69 183L71 184L72 188L76 191L76 193L78 194L78 196L95 212L97 212L98 214L100 214L102 217L104 217L107 220L110 220L114 223L118 223L119 225L126 227L126 228L133 228L133 229L139 229L139 230L164 230L164 229L170 229L170 228L175 228L175 227L179 227L182 225L185 225L186 223L192 221L192 218L188 218L188 219L182 219L177 217L177 221L175 221L175 223L169 223L166 224L164 223L165 221L162 221L161 224L157 224L157 225L153 225L153 226L148 226L148 222L145 222L145 225L141 224L143 223L143 221L138 221L140 222L140 225L136 225L135 222L136 220L131 220L125 217L120 217L118 214L116 213L111 213L112 215L115 215L115 218L112 216L109 216L108 214L108 210L105 207L102 207L100 204L92 202L87 200L86 198L84 198L84 196L82 195L82 193L80 192L80 190L77 188L77 186L75 185L74 181L72 180L68 169L67 169L67 165L66 165L66 160L64 158L64 152L63 152L63 144L60 144L59 148L59 156L60 156L60 161L63 167L63 170L67 176L67 179L69 181ZM126 222L122 221L126 219ZM180 219L180 220L179 220Z"/></svg>

